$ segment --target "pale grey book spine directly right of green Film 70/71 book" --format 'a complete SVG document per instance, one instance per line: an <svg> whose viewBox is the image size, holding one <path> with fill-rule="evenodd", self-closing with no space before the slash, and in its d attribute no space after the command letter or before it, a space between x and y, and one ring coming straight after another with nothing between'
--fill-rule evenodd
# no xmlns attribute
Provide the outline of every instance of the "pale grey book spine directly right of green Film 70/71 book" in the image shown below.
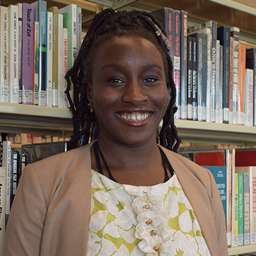
<svg viewBox="0 0 256 256"><path fill-rule="evenodd" d="M244 245L250 244L250 175L244 173Z"/></svg>

